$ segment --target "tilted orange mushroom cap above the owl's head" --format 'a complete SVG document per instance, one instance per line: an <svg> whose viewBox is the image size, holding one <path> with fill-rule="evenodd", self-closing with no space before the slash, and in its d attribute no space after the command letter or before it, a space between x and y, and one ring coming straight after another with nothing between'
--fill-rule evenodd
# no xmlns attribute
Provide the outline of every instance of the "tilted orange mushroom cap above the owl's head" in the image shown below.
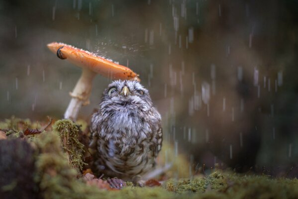
<svg viewBox="0 0 298 199"><path fill-rule="evenodd" d="M62 53L63 58L81 68L88 68L89 70L106 78L110 78L112 80L120 79L140 81L138 78L139 75L134 73L129 68L106 60L91 52L57 42L49 43L47 46L55 54L60 48L60 53Z"/></svg>

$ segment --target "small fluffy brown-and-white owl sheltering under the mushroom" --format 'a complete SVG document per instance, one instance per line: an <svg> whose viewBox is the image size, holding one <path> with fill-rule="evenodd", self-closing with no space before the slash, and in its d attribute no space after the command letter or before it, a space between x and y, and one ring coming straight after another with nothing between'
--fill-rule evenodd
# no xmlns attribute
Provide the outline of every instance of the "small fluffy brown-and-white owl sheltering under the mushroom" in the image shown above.
<svg viewBox="0 0 298 199"><path fill-rule="evenodd" d="M162 146L161 116L136 81L114 81L91 120L98 174L132 180L151 171Z"/></svg>

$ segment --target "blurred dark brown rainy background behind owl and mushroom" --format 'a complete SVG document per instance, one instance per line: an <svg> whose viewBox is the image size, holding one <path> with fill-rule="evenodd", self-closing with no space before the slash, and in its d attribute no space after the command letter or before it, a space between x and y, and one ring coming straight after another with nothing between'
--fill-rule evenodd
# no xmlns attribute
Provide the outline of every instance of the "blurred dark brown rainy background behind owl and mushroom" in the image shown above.
<svg viewBox="0 0 298 199"><path fill-rule="evenodd" d="M190 170L297 177L297 21L297 0L0 0L0 118L62 117L81 69L46 44L64 42L140 74Z"/></svg>

